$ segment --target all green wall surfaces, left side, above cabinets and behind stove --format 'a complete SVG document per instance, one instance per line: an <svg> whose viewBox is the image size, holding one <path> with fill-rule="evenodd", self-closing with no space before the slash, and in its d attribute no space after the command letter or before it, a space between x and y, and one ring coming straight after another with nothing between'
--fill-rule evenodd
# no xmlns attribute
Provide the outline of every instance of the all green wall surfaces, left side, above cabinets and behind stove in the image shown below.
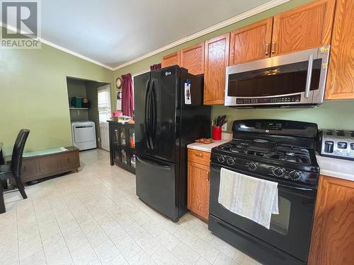
<svg viewBox="0 0 354 265"><path fill-rule="evenodd" d="M115 78L125 73L139 73L161 61L161 57L183 47L209 40L236 28L286 11L310 0L292 0L281 6L246 18L198 39L185 42L152 57L114 71L66 52L42 45L42 49L2 49L0 52L0 141L5 154L11 153L19 129L31 130L27 151L72 144L67 76L111 83L112 106L115 106ZM113 109L114 110L114 109ZM234 110L212 107L212 115L227 114L227 119L279 118L316 122L320 127L354 129L354 102L324 102L314 109ZM231 128L229 123L228 130Z"/></svg>

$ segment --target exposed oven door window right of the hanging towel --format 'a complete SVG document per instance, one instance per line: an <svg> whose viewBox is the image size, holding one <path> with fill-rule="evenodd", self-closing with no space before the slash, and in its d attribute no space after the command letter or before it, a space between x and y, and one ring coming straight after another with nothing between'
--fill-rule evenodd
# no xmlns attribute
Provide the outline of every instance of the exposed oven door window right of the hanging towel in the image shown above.
<svg viewBox="0 0 354 265"><path fill-rule="evenodd" d="M279 214L273 214L270 219L270 229L287 235L290 223L291 202L279 196L278 200Z"/></svg>

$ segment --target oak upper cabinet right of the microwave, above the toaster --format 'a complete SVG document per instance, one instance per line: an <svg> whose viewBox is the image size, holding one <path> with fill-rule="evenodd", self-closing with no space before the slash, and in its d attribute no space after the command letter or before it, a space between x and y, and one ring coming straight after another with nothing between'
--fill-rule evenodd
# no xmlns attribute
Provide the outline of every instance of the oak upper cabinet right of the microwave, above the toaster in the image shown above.
<svg viewBox="0 0 354 265"><path fill-rule="evenodd" d="M326 100L354 99L354 1L338 0L326 83Z"/></svg>

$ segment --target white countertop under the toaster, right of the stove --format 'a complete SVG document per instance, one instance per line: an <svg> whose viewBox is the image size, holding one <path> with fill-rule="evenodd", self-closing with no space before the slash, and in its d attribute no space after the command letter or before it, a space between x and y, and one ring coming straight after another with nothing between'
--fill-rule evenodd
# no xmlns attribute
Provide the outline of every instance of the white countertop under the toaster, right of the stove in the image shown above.
<svg viewBox="0 0 354 265"><path fill-rule="evenodd" d="M354 161L316 155L320 174L354 181Z"/></svg>

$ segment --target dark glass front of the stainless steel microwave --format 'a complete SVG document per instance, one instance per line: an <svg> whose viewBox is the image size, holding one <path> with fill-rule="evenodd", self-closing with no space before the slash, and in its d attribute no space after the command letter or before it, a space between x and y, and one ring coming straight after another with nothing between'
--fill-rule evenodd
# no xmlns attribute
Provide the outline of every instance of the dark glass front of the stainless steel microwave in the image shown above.
<svg viewBox="0 0 354 265"><path fill-rule="evenodd" d="M310 90L319 89L322 59L314 59ZM229 74L227 95L239 98L303 93L309 61Z"/></svg>

